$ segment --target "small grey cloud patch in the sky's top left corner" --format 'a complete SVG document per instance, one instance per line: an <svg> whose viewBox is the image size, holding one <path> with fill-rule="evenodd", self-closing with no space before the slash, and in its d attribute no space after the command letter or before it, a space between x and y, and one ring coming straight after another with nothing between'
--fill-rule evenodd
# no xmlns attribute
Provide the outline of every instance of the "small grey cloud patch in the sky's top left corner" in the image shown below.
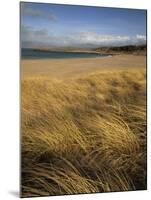
<svg viewBox="0 0 151 200"><path fill-rule="evenodd" d="M46 13L42 9L33 9L29 7L28 5L26 5L26 3L21 4L21 15L57 21L57 17L54 14Z"/></svg>

